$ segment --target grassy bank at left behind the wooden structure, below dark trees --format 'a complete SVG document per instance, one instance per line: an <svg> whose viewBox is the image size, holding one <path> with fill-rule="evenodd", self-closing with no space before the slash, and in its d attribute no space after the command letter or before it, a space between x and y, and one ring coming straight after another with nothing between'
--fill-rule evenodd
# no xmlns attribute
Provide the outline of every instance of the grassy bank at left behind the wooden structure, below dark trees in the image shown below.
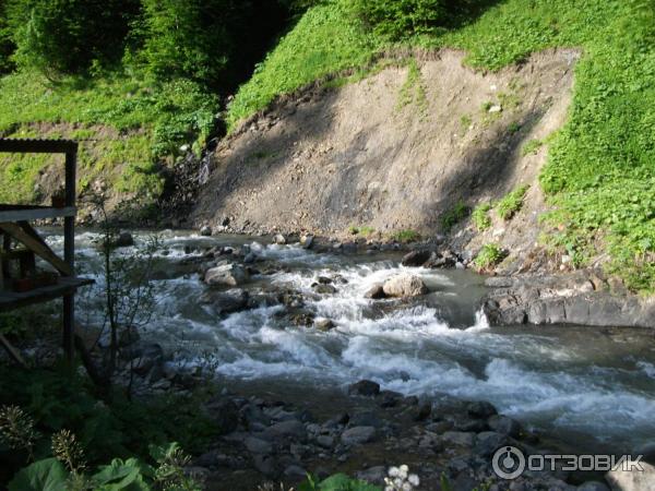
<svg viewBox="0 0 655 491"><path fill-rule="evenodd" d="M0 134L81 140L81 190L100 179L114 191L152 201L163 189L156 166L179 145L203 142L216 105L188 81L155 84L114 74L53 84L36 72L19 72L0 80ZM37 181L56 161L0 156L0 202L47 199Z"/></svg>

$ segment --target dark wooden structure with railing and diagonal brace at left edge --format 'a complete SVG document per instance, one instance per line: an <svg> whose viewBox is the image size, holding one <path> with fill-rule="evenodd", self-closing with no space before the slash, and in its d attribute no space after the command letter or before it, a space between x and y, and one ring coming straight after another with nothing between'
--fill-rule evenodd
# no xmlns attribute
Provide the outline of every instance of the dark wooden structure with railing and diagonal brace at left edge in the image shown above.
<svg viewBox="0 0 655 491"><path fill-rule="evenodd" d="M64 195L53 196L52 206L0 204L0 312L63 298L63 349L69 361L74 355L75 290L92 282L75 277L75 166L78 143L70 140L0 139L3 153L48 153L66 156ZM0 185L2 183L0 182ZM29 221L63 217L63 259L38 236ZM19 248L12 249L12 243ZM36 278L35 256L56 273ZM10 278L11 262L17 261L19 278ZM23 282L21 284L20 282ZM17 351L0 335L0 344L20 360ZM16 358L17 357L17 358Z"/></svg>

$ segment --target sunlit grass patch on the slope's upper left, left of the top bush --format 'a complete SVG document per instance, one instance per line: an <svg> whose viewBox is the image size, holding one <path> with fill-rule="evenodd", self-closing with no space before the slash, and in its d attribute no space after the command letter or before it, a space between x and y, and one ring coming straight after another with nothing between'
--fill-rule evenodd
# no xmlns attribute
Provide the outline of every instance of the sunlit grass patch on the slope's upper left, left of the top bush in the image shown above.
<svg viewBox="0 0 655 491"><path fill-rule="evenodd" d="M234 129L281 94L367 65L379 46L341 2L312 7L240 87L229 106L228 128Z"/></svg>

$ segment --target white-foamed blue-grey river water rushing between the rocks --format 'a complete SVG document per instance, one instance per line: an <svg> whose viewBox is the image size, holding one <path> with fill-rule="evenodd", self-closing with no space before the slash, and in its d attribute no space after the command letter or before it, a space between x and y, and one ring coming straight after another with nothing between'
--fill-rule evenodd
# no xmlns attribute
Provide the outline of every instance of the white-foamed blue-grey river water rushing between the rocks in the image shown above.
<svg viewBox="0 0 655 491"><path fill-rule="evenodd" d="M81 270L98 255L94 235L76 238ZM61 237L48 240L61 247ZM284 271L255 276L251 292L293 288L327 333L291 325L283 306L218 316L199 301L198 275L155 280L157 306L147 335L174 348L171 363L215 362L217 375L267 390L293 386L330 404L330 394L360 379L408 395L485 399L528 428L581 450L631 451L655 439L655 340L646 331L592 327L492 328L479 311L483 278L465 271L405 268L400 255L314 253L299 246L263 246L259 239L203 238L165 231L160 260L172 265L187 248L250 244ZM131 248L121 249L130 254ZM200 252L198 252L200 254ZM420 275L432 291L410 301L368 300L366 290L402 270ZM172 266L171 266L172 271ZM317 295L319 275L341 275L334 295ZM102 278L96 277L102 287ZM99 324L98 296L81 294L80 320Z"/></svg>

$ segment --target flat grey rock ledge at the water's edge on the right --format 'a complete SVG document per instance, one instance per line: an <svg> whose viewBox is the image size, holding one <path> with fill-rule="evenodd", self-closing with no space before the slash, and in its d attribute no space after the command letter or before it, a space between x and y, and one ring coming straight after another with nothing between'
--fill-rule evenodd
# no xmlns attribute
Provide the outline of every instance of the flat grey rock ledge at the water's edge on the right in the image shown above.
<svg viewBox="0 0 655 491"><path fill-rule="evenodd" d="M608 283L588 272L495 277L487 286L493 289L485 299L484 310L496 325L655 327L654 299L611 292Z"/></svg>

